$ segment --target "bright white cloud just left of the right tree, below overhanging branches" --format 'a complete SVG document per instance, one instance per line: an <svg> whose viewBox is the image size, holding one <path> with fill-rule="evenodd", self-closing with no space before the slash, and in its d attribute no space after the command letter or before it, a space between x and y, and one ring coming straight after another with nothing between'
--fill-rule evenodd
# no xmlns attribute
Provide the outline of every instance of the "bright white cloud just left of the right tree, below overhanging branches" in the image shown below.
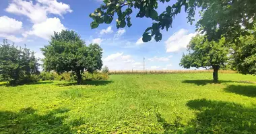
<svg viewBox="0 0 256 134"><path fill-rule="evenodd" d="M197 33L188 34L187 29L180 29L176 33L172 34L168 40L166 40L166 52L177 52L187 48L191 38L195 37Z"/></svg>

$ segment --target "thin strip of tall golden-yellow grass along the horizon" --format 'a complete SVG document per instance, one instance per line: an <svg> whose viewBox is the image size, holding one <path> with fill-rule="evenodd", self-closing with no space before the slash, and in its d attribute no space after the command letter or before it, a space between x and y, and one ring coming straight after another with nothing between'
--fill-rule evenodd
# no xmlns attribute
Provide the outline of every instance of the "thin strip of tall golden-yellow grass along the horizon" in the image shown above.
<svg viewBox="0 0 256 134"><path fill-rule="evenodd" d="M206 73L214 70L109 70L109 74L177 74L177 73ZM223 74L234 74L233 70L219 70Z"/></svg>

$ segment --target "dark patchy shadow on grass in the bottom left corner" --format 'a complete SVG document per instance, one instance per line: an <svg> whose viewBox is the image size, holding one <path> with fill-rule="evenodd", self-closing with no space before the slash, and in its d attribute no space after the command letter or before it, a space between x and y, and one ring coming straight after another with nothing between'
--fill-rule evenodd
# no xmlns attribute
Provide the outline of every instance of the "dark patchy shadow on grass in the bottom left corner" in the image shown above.
<svg viewBox="0 0 256 134"><path fill-rule="evenodd" d="M69 109L57 109L46 115L36 114L36 110L28 107L18 113L0 111L0 133L71 133L71 127L57 116Z"/></svg>

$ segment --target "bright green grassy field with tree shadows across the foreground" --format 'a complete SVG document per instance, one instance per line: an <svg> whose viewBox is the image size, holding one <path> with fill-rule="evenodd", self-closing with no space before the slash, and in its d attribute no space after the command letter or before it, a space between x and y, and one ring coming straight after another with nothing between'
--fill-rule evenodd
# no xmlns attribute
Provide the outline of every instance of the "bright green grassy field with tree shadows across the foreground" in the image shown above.
<svg viewBox="0 0 256 134"><path fill-rule="evenodd" d="M0 133L256 133L256 76L116 74L0 86Z"/></svg>

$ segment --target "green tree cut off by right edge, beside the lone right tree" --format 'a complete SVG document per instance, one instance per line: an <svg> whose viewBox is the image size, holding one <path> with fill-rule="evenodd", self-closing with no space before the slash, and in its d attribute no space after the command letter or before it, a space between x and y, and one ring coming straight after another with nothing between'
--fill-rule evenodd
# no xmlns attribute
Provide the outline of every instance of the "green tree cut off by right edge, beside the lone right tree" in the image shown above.
<svg viewBox="0 0 256 134"><path fill-rule="evenodd" d="M233 66L242 74L256 75L256 39L255 36L241 36L234 46Z"/></svg>

